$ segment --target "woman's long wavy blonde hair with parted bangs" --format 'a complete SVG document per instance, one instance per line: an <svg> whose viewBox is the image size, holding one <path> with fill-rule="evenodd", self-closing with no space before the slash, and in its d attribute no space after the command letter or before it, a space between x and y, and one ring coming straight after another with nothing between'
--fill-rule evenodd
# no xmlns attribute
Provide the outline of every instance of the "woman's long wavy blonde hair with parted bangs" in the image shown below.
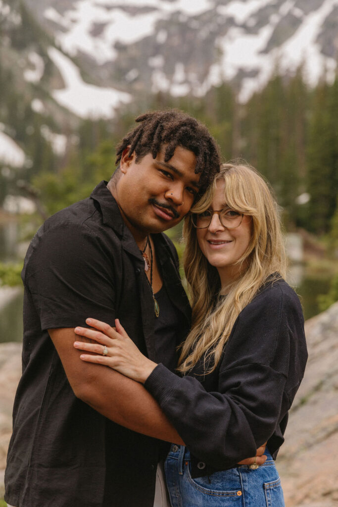
<svg viewBox="0 0 338 507"><path fill-rule="evenodd" d="M218 272L204 257L192 224L191 214L209 208L216 184L224 181L224 202L229 207L251 216L251 240L240 265L240 275L221 294ZM181 346L178 371L186 373L204 358L206 373L212 372L222 355L239 313L257 293L269 276L285 277L286 256L278 206L272 190L251 166L222 164L200 201L186 216L183 226L186 242L184 271L193 308L192 329ZM245 263L243 262L245 261Z"/></svg>

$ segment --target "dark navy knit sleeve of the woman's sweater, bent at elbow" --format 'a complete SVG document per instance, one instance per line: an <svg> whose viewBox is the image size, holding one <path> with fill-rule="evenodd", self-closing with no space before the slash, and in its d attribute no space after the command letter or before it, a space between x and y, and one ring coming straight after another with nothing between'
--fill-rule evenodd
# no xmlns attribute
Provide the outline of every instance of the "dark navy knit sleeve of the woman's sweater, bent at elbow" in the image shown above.
<svg viewBox="0 0 338 507"><path fill-rule="evenodd" d="M292 320L301 317L284 299L277 288L241 312L219 365L217 391L163 365L144 384L191 452L215 468L253 456L272 436L282 405L289 408L290 342L297 339Z"/></svg>

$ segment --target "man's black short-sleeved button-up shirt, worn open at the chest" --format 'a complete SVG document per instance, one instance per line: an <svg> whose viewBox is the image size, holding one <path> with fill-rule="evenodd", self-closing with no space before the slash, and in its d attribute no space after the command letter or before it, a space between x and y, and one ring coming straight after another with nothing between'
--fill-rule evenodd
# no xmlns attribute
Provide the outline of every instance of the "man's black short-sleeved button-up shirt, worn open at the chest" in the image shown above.
<svg viewBox="0 0 338 507"><path fill-rule="evenodd" d="M172 243L164 234L153 239L163 283L180 315L174 351L189 329L190 307ZM88 316L110 325L118 317L143 353L165 361L155 347L144 261L105 182L37 231L22 279L23 374L14 403L6 501L24 507L152 507L160 441L77 399L47 332L84 326Z"/></svg>

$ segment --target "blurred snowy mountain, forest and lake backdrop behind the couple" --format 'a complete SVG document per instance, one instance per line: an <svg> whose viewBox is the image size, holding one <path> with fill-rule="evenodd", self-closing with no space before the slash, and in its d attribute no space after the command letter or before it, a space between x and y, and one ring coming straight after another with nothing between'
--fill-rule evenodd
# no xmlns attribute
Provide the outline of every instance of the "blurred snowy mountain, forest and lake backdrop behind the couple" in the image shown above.
<svg viewBox="0 0 338 507"><path fill-rule="evenodd" d="M20 271L37 228L109 179L134 118L165 107L204 122L223 161L268 178L288 281L306 319L327 310L337 57L338 0L0 0L0 341L22 340ZM181 253L180 227L169 234Z"/></svg>

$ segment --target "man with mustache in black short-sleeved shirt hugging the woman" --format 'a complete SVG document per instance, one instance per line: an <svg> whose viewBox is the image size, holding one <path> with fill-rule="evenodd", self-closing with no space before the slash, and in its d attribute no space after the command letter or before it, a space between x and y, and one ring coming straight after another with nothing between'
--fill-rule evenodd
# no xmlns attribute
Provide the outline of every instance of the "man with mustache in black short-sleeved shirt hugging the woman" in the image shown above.
<svg viewBox="0 0 338 507"><path fill-rule="evenodd" d="M143 386L84 363L72 346L87 317L119 317L142 352L173 369L189 328L177 254L159 233L211 182L218 150L184 113L136 121L108 185L48 219L27 251L5 477L16 507L152 507L162 441L182 443Z"/></svg>

